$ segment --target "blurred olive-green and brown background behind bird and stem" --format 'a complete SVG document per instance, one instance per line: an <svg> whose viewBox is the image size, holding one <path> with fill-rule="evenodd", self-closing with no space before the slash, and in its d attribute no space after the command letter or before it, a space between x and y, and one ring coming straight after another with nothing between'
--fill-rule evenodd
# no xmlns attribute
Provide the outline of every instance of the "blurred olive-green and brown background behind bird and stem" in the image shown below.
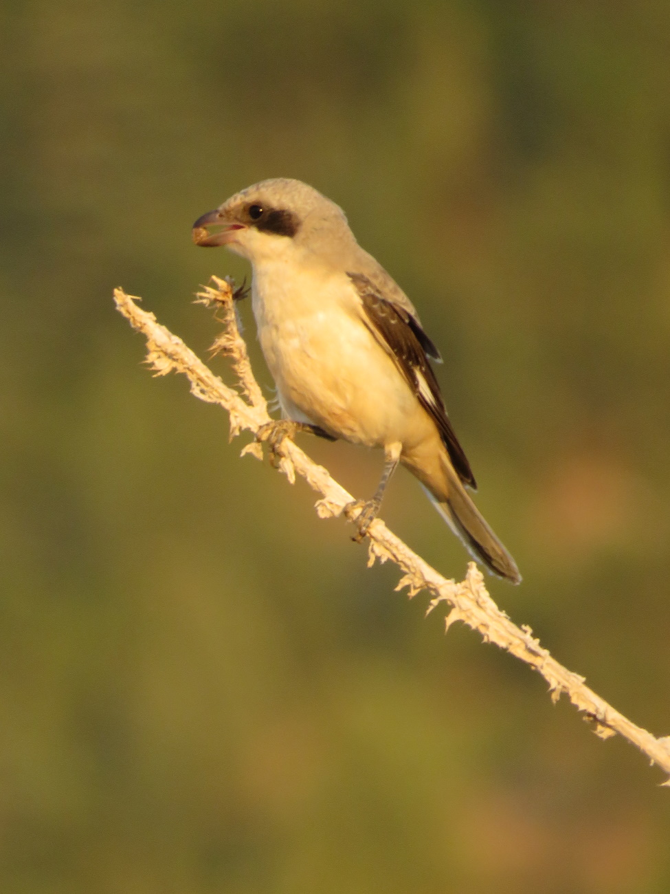
<svg viewBox="0 0 670 894"><path fill-rule="evenodd" d="M423 620L112 301L205 356L190 299L246 268L195 218L337 201L446 358L524 576L492 594L670 734L668 4L5 0L0 34L0 890L670 890L663 774ZM373 492L381 456L301 443ZM406 473L382 514L463 577Z"/></svg>

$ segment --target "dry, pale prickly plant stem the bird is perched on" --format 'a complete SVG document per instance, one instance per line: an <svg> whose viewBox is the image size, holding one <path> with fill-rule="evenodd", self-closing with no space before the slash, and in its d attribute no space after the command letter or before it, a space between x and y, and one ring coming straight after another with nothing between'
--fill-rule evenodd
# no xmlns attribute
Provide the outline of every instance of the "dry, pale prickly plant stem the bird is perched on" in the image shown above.
<svg viewBox="0 0 670 894"><path fill-rule="evenodd" d="M240 388L247 401L214 375L180 338L159 325L153 314L138 308L135 302L139 299L133 299L121 289L114 291L114 299L130 325L147 338L147 364L154 369L155 375L165 375L172 370L184 373L188 376L193 394L203 401L219 403L228 410L230 437L239 434L242 429L255 433L270 420L267 406L255 381L247 356L247 346L239 334L230 282L215 277L213 282L214 287L205 288L205 291L198 293L198 297L207 305L214 304L221 308L222 316L219 318L222 319L225 330L214 342L214 350L223 350L230 356L231 365L239 377ZM316 503L320 518L338 516L349 503L354 502L354 497L334 481L325 468L317 466L288 438L279 445L278 451L281 455L281 471L289 481L293 483L297 473L321 494L321 499ZM247 452L262 459L262 447L259 443L247 444L242 453ZM358 511L346 510L349 520L356 519ZM592 721L593 729L600 738L619 733L638 746L651 763L657 763L670 773L670 737L656 738L629 721L585 686L582 677L568 671L552 658L547 649L542 648L539 641L532 637L531 628L525 625L519 628L512 623L491 599L484 586L482 573L474 562L470 562L465 580L456 584L453 580L443 578L421 556L409 549L389 531L381 519L373 521L368 537L368 565L372 565L375 559L396 562L405 572L397 589L407 586L410 597L420 590L428 590L432 595L428 611L432 611L440 603L447 603L447 629L456 620L461 620L473 630L478 630L485 642L498 645L538 671L549 683L552 701L556 702L565 693L577 709L584 713L585 719ZM662 784L670 786L670 780Z"/></svg>

